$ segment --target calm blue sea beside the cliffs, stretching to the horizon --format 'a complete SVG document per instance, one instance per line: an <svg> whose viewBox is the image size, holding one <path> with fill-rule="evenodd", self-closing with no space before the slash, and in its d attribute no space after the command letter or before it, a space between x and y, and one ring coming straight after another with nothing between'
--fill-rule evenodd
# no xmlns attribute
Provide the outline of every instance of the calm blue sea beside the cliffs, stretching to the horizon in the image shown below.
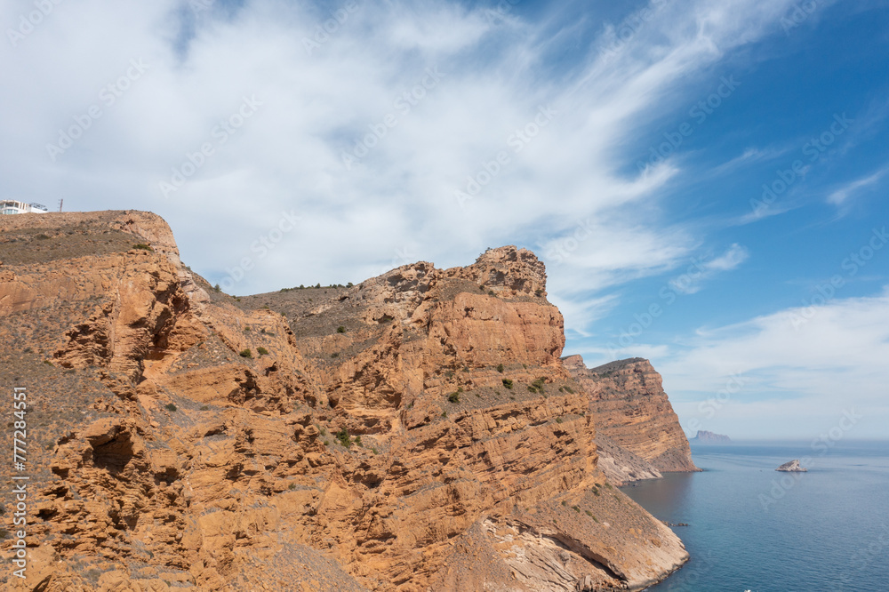
<svg viewBox="0 0 889 592"><path fill-rule="evenodd" d="M624 487L691 561L652 591L889 591L889 443L693 446L702 473ZM778 473L807 459L808 473ZM804 464L805 466L805 464Z"/></svg>

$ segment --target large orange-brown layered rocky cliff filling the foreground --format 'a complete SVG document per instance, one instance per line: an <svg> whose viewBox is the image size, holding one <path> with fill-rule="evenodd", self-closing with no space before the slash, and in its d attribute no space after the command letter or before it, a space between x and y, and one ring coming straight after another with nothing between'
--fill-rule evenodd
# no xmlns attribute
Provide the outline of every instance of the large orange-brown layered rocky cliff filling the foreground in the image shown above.
<svg viewBox="0 0 889 592"><path fill-rule="evenodd" d="M92 212L0 218L0 260L6 588L640 589L687 558L598 467L531 252L238 301L164 220Z"/></svg>

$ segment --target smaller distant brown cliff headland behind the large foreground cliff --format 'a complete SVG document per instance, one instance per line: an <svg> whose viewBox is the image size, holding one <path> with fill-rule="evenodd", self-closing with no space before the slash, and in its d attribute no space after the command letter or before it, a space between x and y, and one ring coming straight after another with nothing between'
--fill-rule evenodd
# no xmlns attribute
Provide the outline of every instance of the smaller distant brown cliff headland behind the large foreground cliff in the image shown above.
<svg viewBox="0 0 889 592"><path fill-rule="evenodd" d="M600 464L613 480L698 470L661 375L648 360L635 357L589 369L581 356L568 356L565 368L589 394L589 409L605 444Z"/></svg>

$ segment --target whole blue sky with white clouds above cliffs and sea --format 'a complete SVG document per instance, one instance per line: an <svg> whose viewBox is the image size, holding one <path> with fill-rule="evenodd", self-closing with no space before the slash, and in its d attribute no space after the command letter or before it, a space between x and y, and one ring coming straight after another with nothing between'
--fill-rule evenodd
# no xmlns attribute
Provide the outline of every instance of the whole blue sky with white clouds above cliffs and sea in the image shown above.
<svg viewBox="0 0 889 592"><path fill-rule="evenodd" d="M232 294L533 250L681 424L889 438L889 0L8 0L0 198Z"/></svg>

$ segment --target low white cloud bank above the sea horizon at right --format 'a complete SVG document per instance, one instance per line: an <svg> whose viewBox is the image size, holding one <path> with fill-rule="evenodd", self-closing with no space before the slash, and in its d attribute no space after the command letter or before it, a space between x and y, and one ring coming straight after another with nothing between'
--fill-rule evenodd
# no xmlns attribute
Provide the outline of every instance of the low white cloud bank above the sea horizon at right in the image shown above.
<svg viewBox="0 0 889 592"><path fill-rule="evenodd" d="M716 425L742 426L748 436L798 437L855 409L868 414L857 437L889 435L889 288L872 298L831 300L701 329L683 346L656 364L685 421L718 420ZM732 377L740 377L740 388L717 413L701 412L701 402L717 398ZM773 415L779 411L783 426ZM757 418L768 425L755 428L750 420Z"/></svg>

